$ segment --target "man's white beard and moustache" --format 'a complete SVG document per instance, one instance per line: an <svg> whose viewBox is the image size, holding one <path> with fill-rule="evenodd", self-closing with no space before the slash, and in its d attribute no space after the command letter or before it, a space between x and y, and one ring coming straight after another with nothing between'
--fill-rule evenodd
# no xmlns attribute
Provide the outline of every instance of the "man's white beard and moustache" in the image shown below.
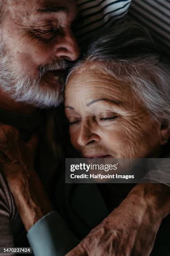
<svg viewBox="0 0 170 256"><path fill-rule="evenodd" d="M16 75L9 68L9 57L0 41L0 87L16 102L25 102L39 108L56 107L63 100L62 78L56 82L56 87L43 85L43 75L50 70L65 69L65 61L47 64L40 67L39 77L32 78L23 74Z"/></svg>

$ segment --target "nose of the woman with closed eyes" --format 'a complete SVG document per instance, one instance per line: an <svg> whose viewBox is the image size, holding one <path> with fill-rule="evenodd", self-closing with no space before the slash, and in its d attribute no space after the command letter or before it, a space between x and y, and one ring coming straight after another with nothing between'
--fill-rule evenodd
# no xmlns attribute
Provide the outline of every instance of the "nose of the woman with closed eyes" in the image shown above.
<svg viewBox="0 0 170 256"><path fill-rule="evenodd" d="M78 144L80 146L91 146L99 141L100 136L93 131L92 127L82 122L80 133L77 140Z"/></svg>

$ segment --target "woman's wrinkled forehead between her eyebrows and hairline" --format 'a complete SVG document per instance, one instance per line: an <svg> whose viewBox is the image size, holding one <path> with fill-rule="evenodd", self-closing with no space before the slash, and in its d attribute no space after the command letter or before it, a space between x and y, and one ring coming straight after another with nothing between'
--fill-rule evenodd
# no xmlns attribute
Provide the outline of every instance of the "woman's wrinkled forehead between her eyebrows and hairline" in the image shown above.
<svg viewBox="0 0 170 256"><path fill-rule="evenodd" d="M72 90L72 93L81 92L81 97L79 98L82 98L84 94L86 107L93 100L98 101L98 99L106 98L122 102L119 107L126 108L128 112L129 110L130 112L135 110L135 98L129 86L123 81L112 78L110 75L107 76L102 72L97 72L96 69L89 69L89 67L83 66L71 75L68 83L69 91ZM132 97L133 100L131 100Z"/></svg>

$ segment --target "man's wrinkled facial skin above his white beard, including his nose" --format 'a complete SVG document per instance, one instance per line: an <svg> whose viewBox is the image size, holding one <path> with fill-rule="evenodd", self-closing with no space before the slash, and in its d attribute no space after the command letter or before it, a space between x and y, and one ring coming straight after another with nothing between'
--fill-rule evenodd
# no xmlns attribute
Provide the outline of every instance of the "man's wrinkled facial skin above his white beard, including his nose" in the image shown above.
<svg viewBox="0 0 170 256"><path fill-rule="evenodd" d="M68 13L38 11L46 6L51 9L62 6L59 0L6 1L2 36L15 74L27 72L34 76L39 66L56 59L77 59L80 51L71 31L76 6L73 0L64 2Z"/></svg>

